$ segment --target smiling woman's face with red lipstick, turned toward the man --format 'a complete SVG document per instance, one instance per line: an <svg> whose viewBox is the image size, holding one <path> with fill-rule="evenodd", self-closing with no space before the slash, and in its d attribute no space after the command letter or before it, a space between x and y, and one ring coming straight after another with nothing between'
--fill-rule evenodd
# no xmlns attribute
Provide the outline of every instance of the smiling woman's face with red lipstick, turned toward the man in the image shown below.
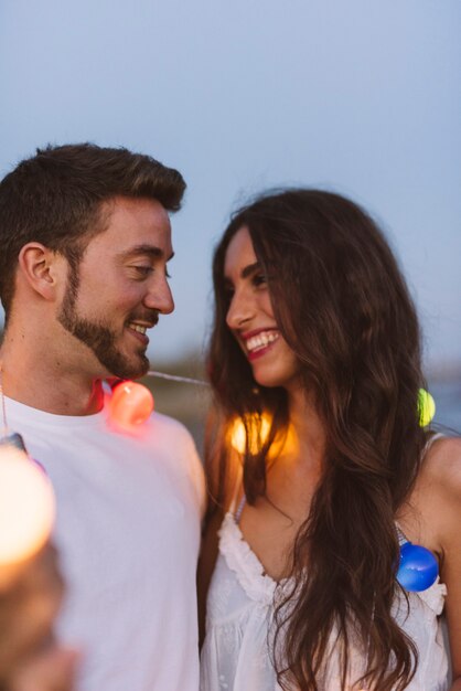
<svg viewBox="0 0 461 691"><path fill-rule="evenodd" d="M270 294L247 227L232 238L224 262L229 293L226 322L261 386L297 385L299 362L274 317Z"/></svg>

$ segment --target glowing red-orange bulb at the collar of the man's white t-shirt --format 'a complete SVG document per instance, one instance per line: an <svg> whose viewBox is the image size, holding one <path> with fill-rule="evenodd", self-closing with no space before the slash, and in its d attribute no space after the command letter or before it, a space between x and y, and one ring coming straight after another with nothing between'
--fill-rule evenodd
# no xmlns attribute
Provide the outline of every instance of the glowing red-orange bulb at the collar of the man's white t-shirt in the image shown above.
<svg viewBox="0 0 461 691"><path fill-rule="evenodd" d="M153 396L142 384L126 381L115 387L109 410L112 422L124 429L132 429L152 413Z"/></svg>

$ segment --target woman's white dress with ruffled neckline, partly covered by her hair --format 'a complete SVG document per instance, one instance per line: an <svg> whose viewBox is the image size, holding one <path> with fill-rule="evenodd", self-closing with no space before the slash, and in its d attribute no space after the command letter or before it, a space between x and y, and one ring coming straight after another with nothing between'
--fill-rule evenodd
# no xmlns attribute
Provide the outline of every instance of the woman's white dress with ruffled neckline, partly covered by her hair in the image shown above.
<svg viewBox="0 0 461 691"><path fill-rule="evenodd" d="M202 650L201 691L281 691L269 650L276 582L264 574L228 512L219 531L219 553L207 598L206 638ZM447 588L437 582L427 591L396 602L394 617L419 651L419 665L408 691L446 691L448 656L440 614ZM334 636L334 635L333 635ZM324 691L341 689L339 651L332 644ZM351 679L364 671L363 653L351 655Z"/></svg>

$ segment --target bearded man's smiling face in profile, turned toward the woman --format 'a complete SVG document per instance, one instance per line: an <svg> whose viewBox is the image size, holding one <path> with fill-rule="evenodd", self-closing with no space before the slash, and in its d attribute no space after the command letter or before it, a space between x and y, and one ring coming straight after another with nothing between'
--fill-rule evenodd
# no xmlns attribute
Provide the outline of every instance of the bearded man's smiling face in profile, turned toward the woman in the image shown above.
<svg viewBox="0 0 461 691"><path fill-rule="evenodd" d="M103 365L101 376L142 376L146 330L174 309L167 262L173 251L167 211L154 200L116 198L107 230L69 266L57 319Z"/></svg>

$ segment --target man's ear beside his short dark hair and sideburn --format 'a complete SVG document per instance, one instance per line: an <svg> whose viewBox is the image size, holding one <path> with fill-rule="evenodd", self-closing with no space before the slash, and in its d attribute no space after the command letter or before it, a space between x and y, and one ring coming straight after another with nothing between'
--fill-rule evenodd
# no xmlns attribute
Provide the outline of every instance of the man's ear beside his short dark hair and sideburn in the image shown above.
<svg viewBox="0 0 461 691"><path fill-rule="evenodd" d="M41 243L28 243L19 253L19 272L45 300L56 297L57 286L65 272L65 259Z"/></svg>

